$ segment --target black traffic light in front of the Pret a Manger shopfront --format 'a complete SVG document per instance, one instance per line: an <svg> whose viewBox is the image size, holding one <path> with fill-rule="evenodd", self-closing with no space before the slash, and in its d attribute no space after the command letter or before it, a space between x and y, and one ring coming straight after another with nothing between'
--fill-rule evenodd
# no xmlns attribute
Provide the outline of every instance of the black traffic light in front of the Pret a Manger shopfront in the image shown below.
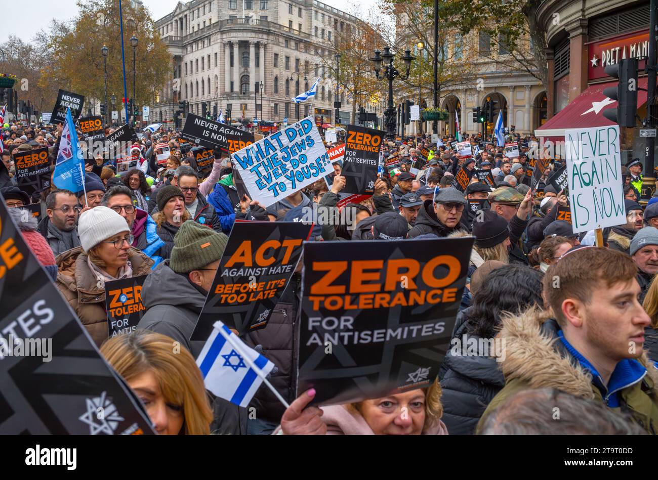
<svg viewBox="0 0 658 480"><path fill-rule="evenodd" d="M603 116L620 127L634 127L638 111L638 59L622 59L606 66L605 73L619 78L619 84L603 90L603 95L617 100L617 108L606 108Z"/></svg>

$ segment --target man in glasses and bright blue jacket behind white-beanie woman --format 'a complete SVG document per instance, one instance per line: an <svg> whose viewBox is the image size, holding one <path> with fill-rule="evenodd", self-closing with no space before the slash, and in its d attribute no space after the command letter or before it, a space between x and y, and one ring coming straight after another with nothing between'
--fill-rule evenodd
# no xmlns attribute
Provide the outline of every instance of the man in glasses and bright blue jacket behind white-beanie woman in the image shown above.
<svg viewBox="0 0 658 480"><path fill-rule="evenodd" d="M130 246L151 258L155 262L155 268L163 260L161 249L164 242L157 234L155 220L147 212L137 208L135 201L136 198L128 187L116 185L105 192L102 204L126 220L133 235Z"/></svg>

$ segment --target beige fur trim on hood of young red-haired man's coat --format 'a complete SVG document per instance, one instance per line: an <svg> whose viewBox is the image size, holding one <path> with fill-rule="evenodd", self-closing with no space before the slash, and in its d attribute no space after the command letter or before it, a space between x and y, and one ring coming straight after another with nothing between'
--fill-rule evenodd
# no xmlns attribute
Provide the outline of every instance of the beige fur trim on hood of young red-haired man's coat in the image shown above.
<svg viewBox="0 0 658 480"><path fill-rule="evenodd" d="M538 308L503 317L497 338L505 339L505 358L500 362L505 381L519 379L533 389L554 388L594 399L592 375L567 353L557 337L557 324L549 319L551 312ZM638 361L647 369L653 397L658 398L658 371L646 352Z"/></svg>

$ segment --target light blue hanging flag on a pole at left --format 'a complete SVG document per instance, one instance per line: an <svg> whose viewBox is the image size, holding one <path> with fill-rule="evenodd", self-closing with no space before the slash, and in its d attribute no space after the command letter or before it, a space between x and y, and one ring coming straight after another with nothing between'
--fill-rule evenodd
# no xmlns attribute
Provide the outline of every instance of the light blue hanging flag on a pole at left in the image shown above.
<svg viewBox="0 0 658 480"><path fill-rule="evenodd" d="M66 108L66 121L57 152L53 181L57 188L70 190L73 193L84 189L84 160L70 108Z"/></svg>

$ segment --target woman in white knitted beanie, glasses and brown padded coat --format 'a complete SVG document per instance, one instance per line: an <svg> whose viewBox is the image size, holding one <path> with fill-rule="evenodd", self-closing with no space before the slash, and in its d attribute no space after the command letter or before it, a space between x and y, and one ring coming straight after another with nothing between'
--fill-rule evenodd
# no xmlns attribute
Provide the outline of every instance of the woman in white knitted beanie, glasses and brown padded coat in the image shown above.
<svg viewBox="0 0 658 480"><path fill-rule="evenodd" d="M130 247L128 223L107 206L80 215L80 247L57 257L57 287L100 347L107 339L105 282L147 275L153 260Z"/></svg>

